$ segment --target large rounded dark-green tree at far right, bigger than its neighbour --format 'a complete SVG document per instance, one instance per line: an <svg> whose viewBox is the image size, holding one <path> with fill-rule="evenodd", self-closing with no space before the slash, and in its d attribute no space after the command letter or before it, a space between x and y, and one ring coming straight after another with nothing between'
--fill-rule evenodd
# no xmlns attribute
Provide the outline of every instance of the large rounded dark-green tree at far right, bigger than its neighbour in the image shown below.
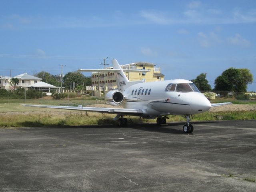
<svg viewBox="0 0 256 192"><path fill-rule="evenodd" d="M253 82L250 70L228 68L215 81L215 91L246 92L249 83Z"/></svg>

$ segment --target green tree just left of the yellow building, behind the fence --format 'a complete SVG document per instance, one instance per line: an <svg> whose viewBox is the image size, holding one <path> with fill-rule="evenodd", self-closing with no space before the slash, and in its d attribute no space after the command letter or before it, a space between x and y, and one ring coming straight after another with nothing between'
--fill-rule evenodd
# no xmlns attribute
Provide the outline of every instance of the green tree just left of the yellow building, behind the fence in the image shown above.
<svg viewBox="0 0 256 192"><path fill-rule="evenodd" d="M63 86L66 89L68 89L68 84L70 83L75 83L75 88L76 88L78 85L80 85L80 87L91 85L92 81L91 81L91 77L86 77L81 72L74 71L74 72L68 72L63 77Z"/></svg>

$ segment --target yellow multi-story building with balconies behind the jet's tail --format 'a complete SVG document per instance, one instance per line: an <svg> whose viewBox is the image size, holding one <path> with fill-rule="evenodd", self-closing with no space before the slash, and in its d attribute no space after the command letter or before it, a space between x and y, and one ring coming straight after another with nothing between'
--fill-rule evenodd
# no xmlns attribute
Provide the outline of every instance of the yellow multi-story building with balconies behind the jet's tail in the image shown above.
<svg viewBox="0 0 256 192"><path fill-rule="evenodd" d="M164 74L160 72L160 67L147 62L136 62L126 65L121 65L122 69L138 70L140 72L125 72L128 80L136 81L145 79L146 82L156 80L164 80ZM112 69L108 68L108 69ZM147 72L145 72L147 71ZM104 86L108 89L116 88L115 74L112 72L92 72L92 87L103 90Z"/></svg>

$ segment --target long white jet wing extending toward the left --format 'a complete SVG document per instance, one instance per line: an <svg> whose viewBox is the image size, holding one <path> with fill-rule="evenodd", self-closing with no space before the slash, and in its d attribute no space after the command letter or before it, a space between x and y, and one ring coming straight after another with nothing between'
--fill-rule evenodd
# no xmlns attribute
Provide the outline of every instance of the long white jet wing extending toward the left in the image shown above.
<svg viewBox="0 0 256 192"><path fill-rule="evenodd" d="M122 108L102 108L102 107L71 107L71 106L51 106L51 105L26 105L25 107L42 107L42 108L53 108L53 109L69 109L69 110L80 110L80 111L89 111L96 113L109 113L109 114L120 114L120 115L134 115L140 116L143 114L140 109L122 109Z"/></svg>

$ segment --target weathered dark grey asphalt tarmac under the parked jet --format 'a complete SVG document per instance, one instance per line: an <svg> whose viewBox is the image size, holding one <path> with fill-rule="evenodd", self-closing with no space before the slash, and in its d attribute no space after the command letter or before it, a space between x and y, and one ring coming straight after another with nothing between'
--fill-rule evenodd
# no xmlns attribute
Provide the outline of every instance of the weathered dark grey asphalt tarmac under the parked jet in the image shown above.
<svg viewBox="0 0 256 192"><path fill-rule="evenodd" d="M256 191L256 120L0 128L0 191Z"/></svg>

